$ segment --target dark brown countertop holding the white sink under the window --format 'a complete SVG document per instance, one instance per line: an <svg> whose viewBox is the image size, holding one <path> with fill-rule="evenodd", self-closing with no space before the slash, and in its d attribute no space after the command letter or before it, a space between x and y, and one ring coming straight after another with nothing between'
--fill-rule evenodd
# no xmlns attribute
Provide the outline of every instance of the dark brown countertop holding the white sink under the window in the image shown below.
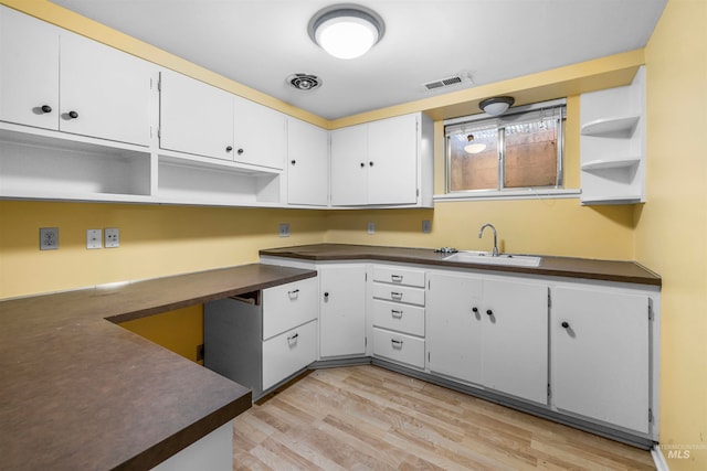
<svg viewBox="0 0 707 471"><path fill-rule="evenodd" d="M295 247L263 249L261 256L325 260L380 260L423 264L477 270L534 274L553 277L587 278L594 280L631 282L659 287L661 277L635 261L595 260L572 257L541 256L539 267L509 267L502 265L461 264L446 261L445 254L431 248L381 247L349 244L314 244Z"/></svg>

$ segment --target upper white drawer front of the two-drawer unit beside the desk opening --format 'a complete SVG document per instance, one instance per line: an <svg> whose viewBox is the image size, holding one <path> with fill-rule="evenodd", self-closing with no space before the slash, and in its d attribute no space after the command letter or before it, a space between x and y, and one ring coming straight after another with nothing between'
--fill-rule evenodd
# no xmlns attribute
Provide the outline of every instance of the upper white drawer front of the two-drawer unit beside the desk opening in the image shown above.
<svg viewBox="0 0 707 471"><path fill-rule="evenodd" d="M317 319L319 282L317 278L295 281L263 290L263 339Z"/></svg>

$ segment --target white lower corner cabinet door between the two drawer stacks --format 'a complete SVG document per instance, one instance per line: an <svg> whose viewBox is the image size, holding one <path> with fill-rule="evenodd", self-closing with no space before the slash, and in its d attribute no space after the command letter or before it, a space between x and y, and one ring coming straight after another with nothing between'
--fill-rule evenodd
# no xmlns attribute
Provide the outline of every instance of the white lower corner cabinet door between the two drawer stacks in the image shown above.
<svg viewBox="0 0 707 471"><path fill-rule="evenodd" d="M319 356L366 354L366 266L321 265Z"/></svg>

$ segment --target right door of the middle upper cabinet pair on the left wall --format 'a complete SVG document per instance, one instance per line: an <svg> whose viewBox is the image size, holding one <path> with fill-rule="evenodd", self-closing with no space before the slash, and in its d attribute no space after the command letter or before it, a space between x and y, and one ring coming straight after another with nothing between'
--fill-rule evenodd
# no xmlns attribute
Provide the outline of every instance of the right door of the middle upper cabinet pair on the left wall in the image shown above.
<svg viewBox="0 0 707 471"><path fill-rule="evenodd" d="M287 118L279 111L233 96L236 162L282 170L287 154Z"/></svg>

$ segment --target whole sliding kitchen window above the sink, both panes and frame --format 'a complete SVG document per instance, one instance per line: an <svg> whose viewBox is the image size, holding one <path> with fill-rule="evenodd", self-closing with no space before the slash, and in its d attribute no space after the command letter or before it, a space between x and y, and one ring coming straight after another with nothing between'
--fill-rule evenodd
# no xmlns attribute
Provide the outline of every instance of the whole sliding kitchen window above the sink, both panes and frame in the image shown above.
<svg viewBox="0 0 707 471"><path fill-rule="evenodd" d="M468 199L552 194L562 190L566 100L492 117L447 120L446 195Z"/></svg>

